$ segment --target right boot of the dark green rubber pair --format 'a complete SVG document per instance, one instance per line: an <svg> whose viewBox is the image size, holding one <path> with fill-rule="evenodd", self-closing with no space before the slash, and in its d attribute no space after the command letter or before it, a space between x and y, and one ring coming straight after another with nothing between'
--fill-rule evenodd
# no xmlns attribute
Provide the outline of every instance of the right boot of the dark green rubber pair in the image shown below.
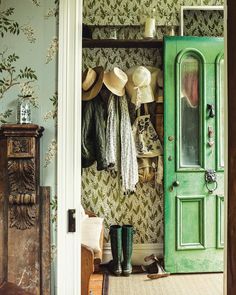
<svg viewBox="0 0 236 295"><path fill-rule="evenodd" d="M123 262L122 271L124 276L129 276L132 273L131 256L133 252L133 233L132 225L123 225L122 227L122 247L123 247Z"/></svg>

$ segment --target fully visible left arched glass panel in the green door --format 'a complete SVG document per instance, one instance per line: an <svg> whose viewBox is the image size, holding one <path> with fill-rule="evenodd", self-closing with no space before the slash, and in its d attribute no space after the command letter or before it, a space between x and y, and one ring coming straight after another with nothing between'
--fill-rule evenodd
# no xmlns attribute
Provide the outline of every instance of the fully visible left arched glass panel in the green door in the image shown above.
<svg viewBox="0 0 236 295"><path fill-rule="evenodd" d="M201 167L201 63L185 55L179 75L179 168Z"/></svg>

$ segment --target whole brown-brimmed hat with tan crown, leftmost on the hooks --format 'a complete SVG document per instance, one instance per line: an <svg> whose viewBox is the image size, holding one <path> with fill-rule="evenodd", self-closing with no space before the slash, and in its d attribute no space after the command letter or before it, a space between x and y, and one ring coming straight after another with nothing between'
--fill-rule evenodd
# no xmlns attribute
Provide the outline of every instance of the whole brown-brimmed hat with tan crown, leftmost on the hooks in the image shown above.
<svg viewBox="0 0 236 295"><path fill-rule="evenodd" d="M82 100L91 100L98 95L103 85L103 67L88 68L82 76Z"/></svg>

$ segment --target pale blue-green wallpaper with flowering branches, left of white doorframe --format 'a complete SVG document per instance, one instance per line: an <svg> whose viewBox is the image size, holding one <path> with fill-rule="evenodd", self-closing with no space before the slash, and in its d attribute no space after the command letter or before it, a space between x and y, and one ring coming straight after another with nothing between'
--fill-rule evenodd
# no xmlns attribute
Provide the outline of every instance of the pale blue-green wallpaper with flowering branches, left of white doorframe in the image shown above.
<svg viewBox="0 0 236 295"><path fill-rule="evenodd" d="M32 122L45 128L41 139L41 185L51 187L53 270L58 6L59 0L0 0L0 121L16 123L18 96L30 95ZM52 293L54 287L52 276Z"/></svg>

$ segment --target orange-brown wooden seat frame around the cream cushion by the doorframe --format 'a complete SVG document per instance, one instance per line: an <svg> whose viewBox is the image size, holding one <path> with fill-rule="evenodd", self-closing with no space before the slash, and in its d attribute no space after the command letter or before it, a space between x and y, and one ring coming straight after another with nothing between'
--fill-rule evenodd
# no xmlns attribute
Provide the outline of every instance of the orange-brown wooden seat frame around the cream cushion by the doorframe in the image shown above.
<svg viewBox="0 0 236 295"><path fill-rule="evenodd" d="M89 217L96 217L93 212L85 211ZM100 248L103 249L104 228L100 234ZM94 251L81 245L81 295L89 295L89 281L92 273L99 269L102 261L102 250L94 253Z"/></svg>

